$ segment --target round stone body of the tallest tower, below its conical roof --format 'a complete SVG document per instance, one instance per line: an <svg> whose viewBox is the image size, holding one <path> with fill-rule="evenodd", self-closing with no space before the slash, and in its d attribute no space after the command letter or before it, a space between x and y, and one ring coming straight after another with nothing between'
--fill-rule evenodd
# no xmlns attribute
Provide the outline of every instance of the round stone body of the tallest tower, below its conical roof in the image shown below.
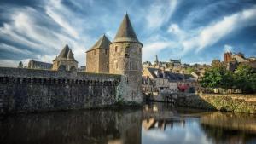
<svg viewBox="0 0 256 144"><path fill-rule="evenodd" d="M109 46L109 73L124 75L125 101L141 102L142 44L131 42L111 43Z"/></svg>

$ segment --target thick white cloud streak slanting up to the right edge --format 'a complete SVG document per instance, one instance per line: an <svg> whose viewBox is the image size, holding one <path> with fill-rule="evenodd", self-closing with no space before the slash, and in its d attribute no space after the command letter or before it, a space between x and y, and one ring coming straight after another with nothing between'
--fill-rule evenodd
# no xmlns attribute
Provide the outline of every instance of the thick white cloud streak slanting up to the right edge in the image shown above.
<svg viewBox="0 0 256 144"><path fill-rule="evenodd" d="M183 41L185 50L196 49L197 51L217 43L223 37L229 35L245 26L256 24L256 6L245 9L236 14L225 16L223 20L217 21L210 26L202 27L195 37Z"/></svg>

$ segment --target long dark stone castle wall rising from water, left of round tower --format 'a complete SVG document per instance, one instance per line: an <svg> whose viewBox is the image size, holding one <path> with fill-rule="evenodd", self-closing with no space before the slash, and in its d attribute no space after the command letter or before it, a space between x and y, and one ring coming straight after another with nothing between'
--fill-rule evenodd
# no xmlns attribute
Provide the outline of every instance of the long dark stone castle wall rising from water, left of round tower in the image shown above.
<svg viewBox="0 0 256 144"><path fill-rule="evenodd" d="M106 107L120 75L0 67L0 113Z"/></svg>

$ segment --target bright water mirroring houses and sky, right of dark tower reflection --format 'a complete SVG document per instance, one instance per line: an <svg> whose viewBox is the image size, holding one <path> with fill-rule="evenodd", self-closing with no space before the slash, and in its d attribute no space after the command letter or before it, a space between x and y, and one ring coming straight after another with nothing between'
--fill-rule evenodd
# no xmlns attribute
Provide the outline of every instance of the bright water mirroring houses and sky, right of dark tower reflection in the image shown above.
<svg viewBox="0 0 256 144"><path fill-rule="evenodd" d="M256 143L255 115L153 103L143 107L142 124L142 143L147 144Z"/></svg>

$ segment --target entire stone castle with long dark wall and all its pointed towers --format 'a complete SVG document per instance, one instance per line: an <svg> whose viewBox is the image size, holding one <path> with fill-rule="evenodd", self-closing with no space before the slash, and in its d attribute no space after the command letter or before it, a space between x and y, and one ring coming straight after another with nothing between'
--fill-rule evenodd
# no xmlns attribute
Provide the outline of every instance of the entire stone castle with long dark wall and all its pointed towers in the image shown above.
<svg viewBox="0 0 256 144"><path fill-rule="evenodd" d="M50 70L0 67L0 114L140 103L142 47L125 14L113 42L103 35L86 52L86 72L67 44Z"/></svg>

